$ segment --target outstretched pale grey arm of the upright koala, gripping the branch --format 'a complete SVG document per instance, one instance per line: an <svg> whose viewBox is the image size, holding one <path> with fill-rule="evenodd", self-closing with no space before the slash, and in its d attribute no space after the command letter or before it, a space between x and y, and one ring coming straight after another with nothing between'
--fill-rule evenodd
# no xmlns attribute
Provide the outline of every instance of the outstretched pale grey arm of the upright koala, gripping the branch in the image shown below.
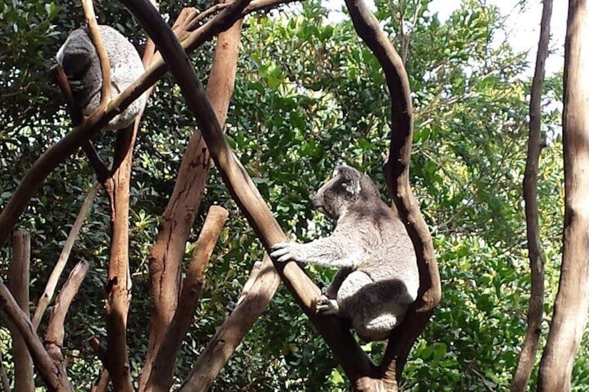
<svg viewBox="0 0 589 392"><path fill-rule="evenodd" d="M362 261L365 250L347 237L331 236L307 244L279 242L272 246L270 255L278 262L301 262L336 268L355 268Z"/></svg>

